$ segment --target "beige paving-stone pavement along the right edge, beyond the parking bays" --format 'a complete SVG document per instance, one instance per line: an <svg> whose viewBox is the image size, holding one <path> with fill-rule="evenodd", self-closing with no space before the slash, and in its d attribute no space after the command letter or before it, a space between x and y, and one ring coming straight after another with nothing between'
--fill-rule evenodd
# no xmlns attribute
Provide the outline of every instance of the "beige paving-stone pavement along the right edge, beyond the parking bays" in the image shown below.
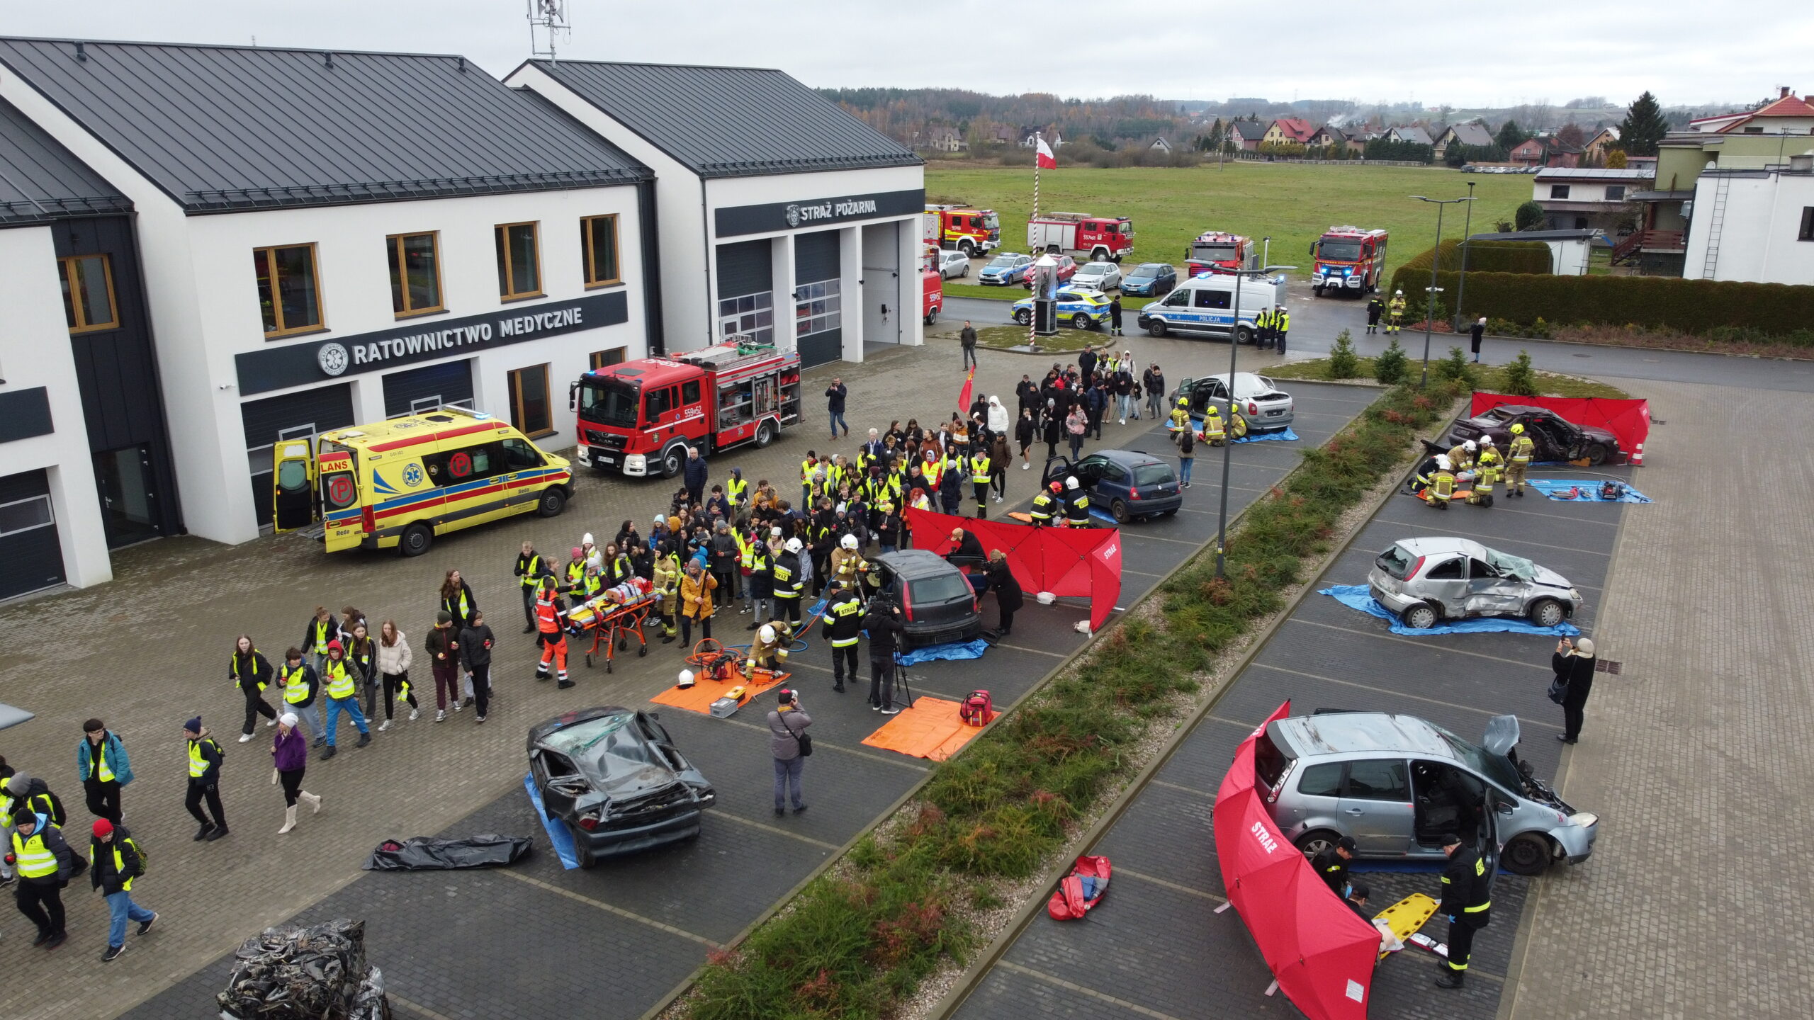
<svg viewBox="0 0 1814 1020"><path fill-rule="evenodd" d="M1533 897L1511 1020L1814 1016L1814 397L1649 383L1651 432L1562 793L1600 813Z"/></svg>

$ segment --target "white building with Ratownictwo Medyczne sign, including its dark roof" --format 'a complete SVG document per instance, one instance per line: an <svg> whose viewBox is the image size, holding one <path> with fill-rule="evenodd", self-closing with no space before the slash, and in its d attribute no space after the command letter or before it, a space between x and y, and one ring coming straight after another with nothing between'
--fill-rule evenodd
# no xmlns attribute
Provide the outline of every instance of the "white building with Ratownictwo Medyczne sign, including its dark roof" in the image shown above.
<svg viewBox="0 0 1814 1020"><path fill-rule="evenodd" d="M0 98L136 211L198 535L259 534L279 437L463 403L561 448L566 381L658 350L649 171L461 56L0 38Z"/></svg>

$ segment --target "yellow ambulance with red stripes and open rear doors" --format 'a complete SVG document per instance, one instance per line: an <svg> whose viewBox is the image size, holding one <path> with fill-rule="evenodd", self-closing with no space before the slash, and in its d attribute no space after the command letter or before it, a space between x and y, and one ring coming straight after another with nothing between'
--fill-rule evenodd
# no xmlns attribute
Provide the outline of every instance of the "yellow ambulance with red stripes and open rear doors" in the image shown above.
<svg viewBox="0 0 1814 1020"><path fill-rule="evenodd" d="M285 439L272 450L272 530L321 521L328 552L421 555L435 535L537 512L573 497L573 470L490 414L444 407Z"/></svg>

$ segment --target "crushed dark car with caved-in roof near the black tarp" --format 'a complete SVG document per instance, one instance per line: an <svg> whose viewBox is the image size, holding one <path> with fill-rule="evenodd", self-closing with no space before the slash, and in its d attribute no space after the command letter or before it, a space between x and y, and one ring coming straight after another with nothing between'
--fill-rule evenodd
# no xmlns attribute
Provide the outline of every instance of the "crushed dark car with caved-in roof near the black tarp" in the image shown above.
<svg viewBox="0 0 1814 1020"><path fill-rule="evenodd" d="M580 868L698 835L717 793L649 711L602 706L530 730L530 777Z"/></svg>

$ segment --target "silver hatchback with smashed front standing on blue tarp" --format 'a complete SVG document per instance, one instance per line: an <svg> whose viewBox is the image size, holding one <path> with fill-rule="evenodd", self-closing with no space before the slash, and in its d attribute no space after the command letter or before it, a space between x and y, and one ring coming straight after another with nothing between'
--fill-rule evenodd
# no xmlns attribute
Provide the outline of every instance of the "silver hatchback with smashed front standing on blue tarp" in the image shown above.
<svg viewBox="0 0 1814 1020"><path fill-rule="evenodd" d="M1373 599L1413 630L1462 617L1556 626L1582 608L1567 577L1469 539L1400 539L1373 559L1366 581Z"/></svg>

